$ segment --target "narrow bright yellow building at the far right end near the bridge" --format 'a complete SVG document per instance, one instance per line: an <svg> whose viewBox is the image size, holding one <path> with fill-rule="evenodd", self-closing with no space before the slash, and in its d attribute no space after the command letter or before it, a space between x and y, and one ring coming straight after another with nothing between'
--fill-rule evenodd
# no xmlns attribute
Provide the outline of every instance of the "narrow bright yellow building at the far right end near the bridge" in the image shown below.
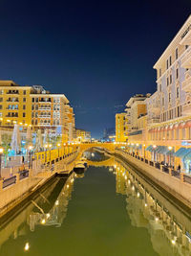
<svg viewBox="0 0 191 256"><path fill-rule="evenodd" d="M126 142L127 137L127 116L126 113L117 113L116 114L116 141L117 142Z"/></svg>

